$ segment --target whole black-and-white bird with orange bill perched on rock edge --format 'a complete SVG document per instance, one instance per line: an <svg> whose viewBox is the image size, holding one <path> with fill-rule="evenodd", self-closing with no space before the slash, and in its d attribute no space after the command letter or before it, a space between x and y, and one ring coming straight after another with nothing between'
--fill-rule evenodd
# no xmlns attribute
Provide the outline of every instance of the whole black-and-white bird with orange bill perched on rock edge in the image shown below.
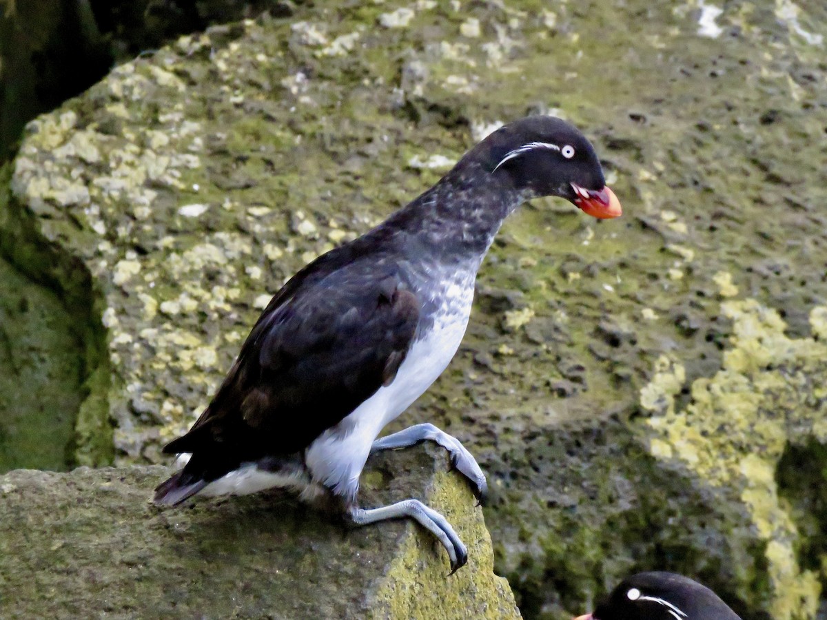
<svg viewBox="0 0 827 620"><path fill-rule="evenodd" d="M501 126L385 222L300 269L189 432L165 446L190 456L155 503L286 488L355 526L412 518L445 547L452 573L464 565L466 546L442 514L415 498L362 508L359 477L375 452L435 441L485 494L473 455L433 424L377 437L445 370L500 225L541 196L602 219L622 213L581 131L536 115Z"/></svg>

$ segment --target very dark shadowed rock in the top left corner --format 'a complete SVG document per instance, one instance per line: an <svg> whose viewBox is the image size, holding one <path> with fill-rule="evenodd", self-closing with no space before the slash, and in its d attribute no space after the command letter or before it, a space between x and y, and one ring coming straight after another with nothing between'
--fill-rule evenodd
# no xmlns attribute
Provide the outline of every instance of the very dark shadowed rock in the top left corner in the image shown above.
<svg viewBox="0 0 827 620"><path fill-rule="evenodd" d="M289 0L7 2L0 12L0 164L26 122L102 79L113 62L265 9L279 17L294 12Z"/></svg>

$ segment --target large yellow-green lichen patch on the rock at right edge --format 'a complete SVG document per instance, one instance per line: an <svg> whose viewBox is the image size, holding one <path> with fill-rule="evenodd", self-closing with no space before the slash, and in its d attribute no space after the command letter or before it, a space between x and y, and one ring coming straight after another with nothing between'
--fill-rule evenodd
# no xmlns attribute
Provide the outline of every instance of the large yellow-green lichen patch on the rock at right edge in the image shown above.
<svg viewBox="0 0 827 620"><path fill-rule="evenodd" d="M731 348L715 376L692 382L691 402L676 408L685 381L679 362L661 362L641 390L643 407L654 413L646 421L653 431L649 449L748 509L756 536L767 543L772 618L815 618L820 575L801 568L800 532L776 477L788 444L827 443L827 346L814 337L791 338L778 312L754 299L726 302L721 310L733 321ZM818 307L810 314L819 336L824 313Z"/></svg>

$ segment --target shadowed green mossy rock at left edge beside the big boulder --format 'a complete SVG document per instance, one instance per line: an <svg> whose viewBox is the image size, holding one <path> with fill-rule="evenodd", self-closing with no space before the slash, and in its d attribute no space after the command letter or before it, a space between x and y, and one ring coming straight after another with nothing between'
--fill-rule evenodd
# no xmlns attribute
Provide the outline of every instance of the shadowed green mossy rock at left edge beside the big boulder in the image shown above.
<svg viewBox="0 0 827 620"><path fill-rule="evenodd" d="M10 172L5 166L2 177ZM41 236L8 184L0 186L0 255L10 261L2 266L10 305L2 322L8 385L0 407L0 470L107 465L112 425L108 392L98 388L112 378L101 366L105 336L93 284L77 260Z"/></svg>

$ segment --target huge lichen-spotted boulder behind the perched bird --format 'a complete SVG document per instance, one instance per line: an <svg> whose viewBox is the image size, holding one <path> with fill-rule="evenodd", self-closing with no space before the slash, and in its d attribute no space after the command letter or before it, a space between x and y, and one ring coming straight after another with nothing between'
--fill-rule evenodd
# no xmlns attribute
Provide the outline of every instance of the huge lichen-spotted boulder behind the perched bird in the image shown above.
<svg viewBox="0 0 827 620"><path fill-rule="evenodd" d="M659 568L748 620L816 618L825 11L326 2L114 69L30 124L0 202L4 254L85 321L76 460L160 462L285 278L498 122L554 112L625 215L506 222L460 354L399 425L476 454L527 617Z"/></svg>

